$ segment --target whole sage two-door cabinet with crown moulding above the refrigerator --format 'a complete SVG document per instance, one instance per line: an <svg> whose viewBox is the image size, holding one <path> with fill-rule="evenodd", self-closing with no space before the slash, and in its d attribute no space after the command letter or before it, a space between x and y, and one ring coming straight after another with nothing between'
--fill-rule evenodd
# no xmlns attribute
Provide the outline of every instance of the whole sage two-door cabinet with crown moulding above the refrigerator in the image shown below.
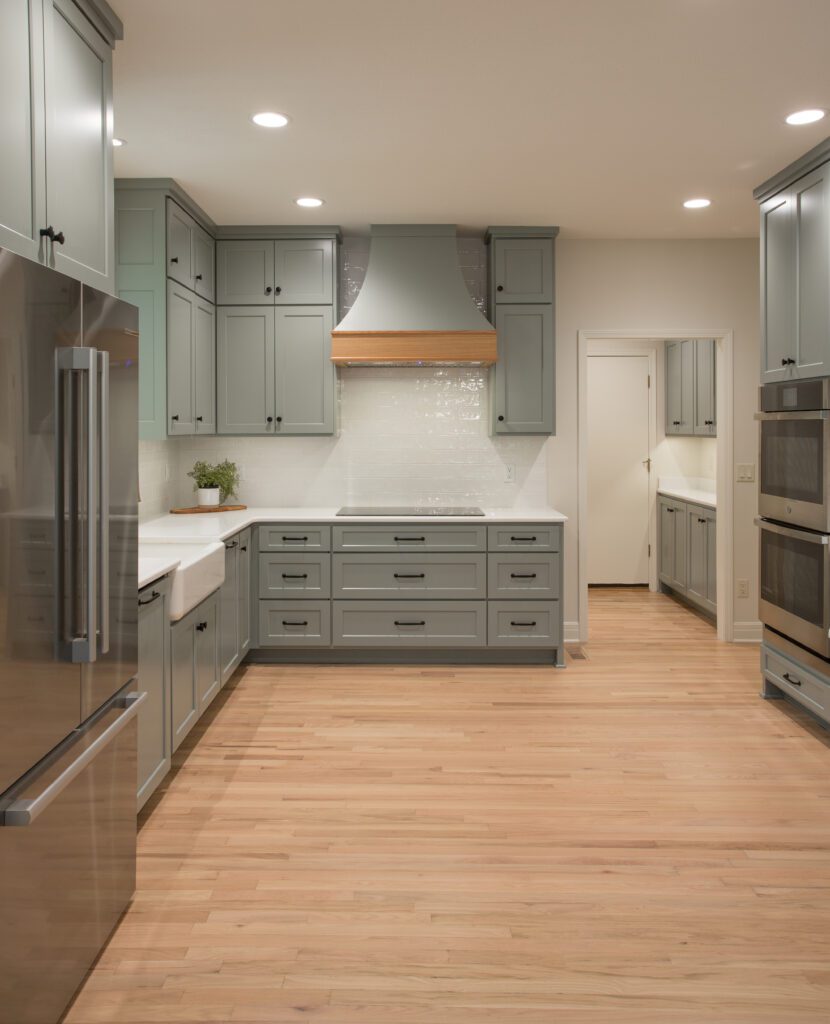
<svg viewBox="0 0 830 1024"><path fill-rule="evenodd" d="M94 0L0 5L0 244L107 292L116 38Z"/></svg>

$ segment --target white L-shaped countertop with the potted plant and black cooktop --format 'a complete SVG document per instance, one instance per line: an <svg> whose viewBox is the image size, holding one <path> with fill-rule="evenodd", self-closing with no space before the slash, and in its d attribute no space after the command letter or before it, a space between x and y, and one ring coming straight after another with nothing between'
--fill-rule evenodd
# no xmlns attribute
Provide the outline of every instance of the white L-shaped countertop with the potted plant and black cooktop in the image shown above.
<svg viewBox="0 0 830 1024"><path fill-rule="evenodd" d="M566 522L567 516L552 508L482 509L483 516L338 516L336 508L250 508L242 512L203 512L163 515L138 527L139 559L142 541L226 541L256 522L341 523L467 523L482 526L499 522ZM139 566L139 578L141 569ZM156 577L158 579L158 577Z"/></svg>

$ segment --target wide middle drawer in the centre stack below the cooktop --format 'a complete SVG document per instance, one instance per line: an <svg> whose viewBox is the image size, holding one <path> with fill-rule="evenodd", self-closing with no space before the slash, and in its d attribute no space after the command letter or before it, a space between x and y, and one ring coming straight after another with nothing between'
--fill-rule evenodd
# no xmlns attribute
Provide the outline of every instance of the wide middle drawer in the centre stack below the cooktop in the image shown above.
<svg viewBox="0 0 830 1024"><path fill-rule="evenodd" d="M484 554L335 555L334 596L483 599L486 562Z"/></svg>

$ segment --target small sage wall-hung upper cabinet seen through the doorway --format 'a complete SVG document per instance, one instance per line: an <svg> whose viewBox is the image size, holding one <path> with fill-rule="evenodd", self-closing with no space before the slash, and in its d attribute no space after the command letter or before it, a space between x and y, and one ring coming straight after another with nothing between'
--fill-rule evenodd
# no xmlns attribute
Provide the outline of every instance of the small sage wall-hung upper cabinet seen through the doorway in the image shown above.
<svg viewBox="0 0 830 1024"><path fill-rule="evenodd" d="M666 342L665 432L709 437L717 432L713 338Z"/></svg>

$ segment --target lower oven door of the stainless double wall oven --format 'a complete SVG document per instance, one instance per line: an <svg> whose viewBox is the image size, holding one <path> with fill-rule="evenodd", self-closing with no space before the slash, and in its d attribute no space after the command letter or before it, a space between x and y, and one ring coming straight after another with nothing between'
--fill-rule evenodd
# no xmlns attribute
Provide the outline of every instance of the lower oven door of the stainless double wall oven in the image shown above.
<svg viewBox="0 0 830 1024"><path fill-rule="evenodd" d="M760 620L830 657L830 536L756 519Z"/></svg>

